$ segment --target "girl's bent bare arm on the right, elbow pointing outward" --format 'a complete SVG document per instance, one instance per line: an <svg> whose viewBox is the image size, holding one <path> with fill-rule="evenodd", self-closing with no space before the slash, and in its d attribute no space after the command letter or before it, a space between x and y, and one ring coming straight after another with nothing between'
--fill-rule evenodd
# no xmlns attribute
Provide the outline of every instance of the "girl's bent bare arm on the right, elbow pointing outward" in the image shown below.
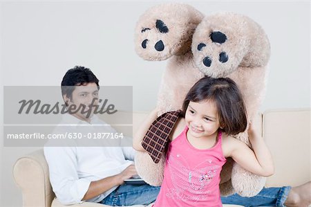
<svg viewBox="0 0 311 207"><path fill-rule="evenodd" d="M263 177L269 177L274 174L274 164L270 151L265 145L263 138L259 136L255 130L248 130L249 141L252 143L254 152L245 143L238 141L236 138L227 138L227 146L229 154L236 163L246 170L258 174Z"/></svg>

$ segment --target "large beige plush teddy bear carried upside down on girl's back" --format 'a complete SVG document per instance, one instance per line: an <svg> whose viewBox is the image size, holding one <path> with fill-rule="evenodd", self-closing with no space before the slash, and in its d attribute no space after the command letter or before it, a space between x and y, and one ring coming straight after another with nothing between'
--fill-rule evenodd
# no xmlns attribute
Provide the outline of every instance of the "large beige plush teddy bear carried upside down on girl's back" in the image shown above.
<svg viewBox="0 0 311 207"><path fill-rule="evenodd" d="M203 17L190 6L171 3L147 10L140 17L135 32L135 50L140 57L153 61L169 58L158 94L158 115L180 109L191 86L209 75L232 78L243 93L249 123L256 116L265 92L270 44L255 21L232 12ZM250 146L247 130L236 138ZM159 163L153 163L147 152L138 152L135 165L147 183L160 186L164 154ZM228 159L221 173L220 192L251 197L264 184L263 177L247 172Z"/></svg>

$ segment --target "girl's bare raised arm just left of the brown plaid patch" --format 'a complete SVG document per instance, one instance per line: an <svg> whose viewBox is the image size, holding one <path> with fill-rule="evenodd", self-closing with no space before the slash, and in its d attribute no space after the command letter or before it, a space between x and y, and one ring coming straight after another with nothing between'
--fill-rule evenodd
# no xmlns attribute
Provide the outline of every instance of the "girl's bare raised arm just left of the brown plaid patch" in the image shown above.
<svg viewBox="0 0 311 207"><path fill-rule="evenodd" d="M151 113L147 116L147 118L142 122L140 127L138 128L138 131L135 133L135 136L133 137L133 148L138 151L145 152L144 148L142 147L142 139L144 138L144 135L146 135L149 127L153 123L157 116L158 111L156 109L153 109Z"/></svg>

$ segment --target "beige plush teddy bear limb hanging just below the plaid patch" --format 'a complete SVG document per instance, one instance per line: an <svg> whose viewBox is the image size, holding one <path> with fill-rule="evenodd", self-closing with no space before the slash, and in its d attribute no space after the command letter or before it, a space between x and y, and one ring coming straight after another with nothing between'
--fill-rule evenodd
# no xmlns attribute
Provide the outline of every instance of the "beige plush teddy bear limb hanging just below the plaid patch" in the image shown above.
<svg viewBox="0 0 311 207"><path fill-rule="evenodd" d="M151 186L161 186L164 174L165 157L154 163L147 152L136 152L135 168L138 175Z"/></svg>

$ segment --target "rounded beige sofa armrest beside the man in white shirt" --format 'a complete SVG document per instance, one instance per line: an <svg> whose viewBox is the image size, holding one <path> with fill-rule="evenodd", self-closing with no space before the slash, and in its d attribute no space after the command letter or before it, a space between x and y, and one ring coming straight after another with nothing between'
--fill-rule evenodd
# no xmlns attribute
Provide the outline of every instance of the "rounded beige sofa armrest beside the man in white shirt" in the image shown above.
<svg viewBox="0 0 311 207"><path fill-rule="evenodd" d="M19 158L13 167L13 176L21 188L24 207L50 207L55 194L50 186L48 163L43 150Z"/></svg>

